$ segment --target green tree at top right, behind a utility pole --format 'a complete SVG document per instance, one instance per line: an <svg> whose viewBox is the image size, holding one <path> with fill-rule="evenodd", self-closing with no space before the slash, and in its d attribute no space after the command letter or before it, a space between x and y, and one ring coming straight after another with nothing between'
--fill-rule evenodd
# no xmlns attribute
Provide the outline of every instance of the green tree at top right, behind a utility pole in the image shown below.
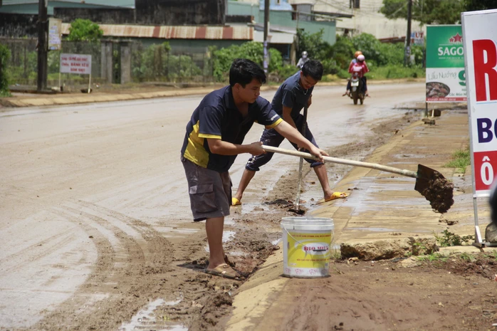
<svg viewBox="0 0 497 331"><path fill-rule="evenodd" d="M387 19L407 19L407 1L383 0L380 13ZM422 24L460 23L464 1L480 0L412 0L412 19Z"/></svg>

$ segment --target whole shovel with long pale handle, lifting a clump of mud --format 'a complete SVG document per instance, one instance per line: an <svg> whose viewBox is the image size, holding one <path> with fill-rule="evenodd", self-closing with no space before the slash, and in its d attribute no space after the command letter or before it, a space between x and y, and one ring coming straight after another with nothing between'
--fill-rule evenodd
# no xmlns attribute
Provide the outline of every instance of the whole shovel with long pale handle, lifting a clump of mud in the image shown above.
<svg viewBox="0 0 497 331"><path fill-rule="evenodd" d="M263 145L262 148L266 152L287 154L294 157L300 157L301 159L318 159L318 157L305 152L298 152L266 145ZM436 170L426 167L422 164L418 164L417 172L413 172L411 170L398 169L394 167L384 166L382 164L360 162L351 159L339 159L338 157L323 157L323 159L327 162L346 164L354 167L376 169L382 172L392 172L393 174L415 178L416 185L414 185L414 189L421 193L422 196L424 196L428 201L430 201L431 208L435 209L439 213L445 213L449 210L452 204L454 204L454 184L445 179L445 177L440 172L437 172ZM300 190L298 191L298 194L300 196Z"/></svg>

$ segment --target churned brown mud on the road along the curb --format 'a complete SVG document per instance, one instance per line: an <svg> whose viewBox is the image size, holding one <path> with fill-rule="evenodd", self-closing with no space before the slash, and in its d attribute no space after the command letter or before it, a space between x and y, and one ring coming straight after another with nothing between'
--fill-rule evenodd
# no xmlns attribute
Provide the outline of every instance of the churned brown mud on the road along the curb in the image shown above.
<svg viewBox="0 0 497 331"><path fill-rule="evenodd" d="M371 139L328 152L335 157L362 159L417 116L417 112L407 112L400 120L372 128ZM347 169L328 164L335 181ZM242 214L239 207L231 209L232 221L226 222L225 231L234 231L225 248L235 268L248 277L275 249L273 243L281 238L281 218L295 216L288 209L293 206L296 178L296 172L284 175L261 206L248 214ZM314 203L307 201L304 206L311 209ZM61 325L66 330L132 330L123 321L129 321L151 300L159 300L155 318L142 316L135 326L222 330L218 322L231 311L232 298L241 284L202 272L208 263L203 224L194 225L200 231L184 240L168 241L149 224L88 201L75 200L55 212L88 233L88 242L98 249L98 260L77 292L56 310L46 311L29 330L57 330ZM130 229L137 235L127 235Z"/></svg>

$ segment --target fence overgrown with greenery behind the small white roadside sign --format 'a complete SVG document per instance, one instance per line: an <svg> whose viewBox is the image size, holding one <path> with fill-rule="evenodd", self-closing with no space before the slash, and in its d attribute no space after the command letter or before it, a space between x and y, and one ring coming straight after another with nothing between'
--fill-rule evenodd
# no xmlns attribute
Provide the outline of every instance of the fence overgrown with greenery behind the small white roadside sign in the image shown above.
<svg viewBox="0 0 497 331"><path fill-rule="evenodd" d="M38 54L36 39L0 38L0 43L11 51L8 70L14 85L36 85ZM155 44L144 46L140 41L127 43L131 50L131 80L141 82L211 82L213 59L209 53L175 53L174 49ZM92 56L92 83L120 83L120 42L113 41L112 78L106 78L101 65L104 53L100 43L63 41L61 51L48 52L48 86L80 86L88 84L88 75L59 73L61 53L89 54ZM109 81L112 80L112 81Z"/></svg>

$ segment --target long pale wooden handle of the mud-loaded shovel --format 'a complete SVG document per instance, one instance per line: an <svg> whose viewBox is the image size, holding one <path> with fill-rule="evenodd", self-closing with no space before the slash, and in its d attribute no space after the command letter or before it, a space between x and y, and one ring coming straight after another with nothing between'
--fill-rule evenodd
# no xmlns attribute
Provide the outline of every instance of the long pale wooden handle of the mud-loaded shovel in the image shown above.
<svg viewBox="0 0 497 331"><path fill-rule="evenodd" d="M266 145L263 145L262 148L266 152L286 154L286 155L292 155L293 157L304 157L305 159L318 160L318 158L315 157L313 154L309 154L309 153L305 153L305 152L298 152L298 151L293 151L290 149L283 149L283 148L279 148L279 147L271 147L271 146L266 146ZM327 162L346 164L346 165L350 165L350 166L354 166L354 167L376 169L376 170L381 170L382 172L392 172L393 174L400 174L402 176L418 178L417 172L412 172L411 170L406 170L406 169L398 169L398 168L394 168L394 167L388 167L388 166L384 166L382 164L353 161L352 159L339 159L338 157L323 157L323 159L325 159L325 161L327 161Z"/></svg>

